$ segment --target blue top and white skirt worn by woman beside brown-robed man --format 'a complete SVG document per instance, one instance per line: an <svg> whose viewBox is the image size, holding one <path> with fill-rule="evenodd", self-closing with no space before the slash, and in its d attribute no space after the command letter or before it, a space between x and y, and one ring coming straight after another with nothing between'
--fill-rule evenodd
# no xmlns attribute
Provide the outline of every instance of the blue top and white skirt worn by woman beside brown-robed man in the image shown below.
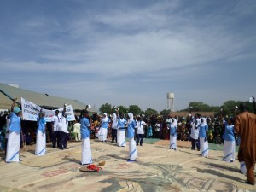
<svg viewBox="0 0 256 192"><path fill-rule="evenodd" d="M227 162L232 162L235 160L236 154L236 139L234 135L234 125L229 125L224 121L225 131L224 131L224 157L223 159Z"/></svg>

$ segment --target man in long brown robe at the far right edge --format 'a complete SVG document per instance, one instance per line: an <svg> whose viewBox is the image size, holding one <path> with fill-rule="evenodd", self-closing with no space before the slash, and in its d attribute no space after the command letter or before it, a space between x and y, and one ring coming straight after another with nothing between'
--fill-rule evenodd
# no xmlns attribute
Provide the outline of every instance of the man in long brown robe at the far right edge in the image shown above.
<svg viewBox="0 0 256 192"><path fill-rule="evenodd" d="M239 106L241 113L235 119L235 131L241 138L238 160L242 168L247 170L246 183L255 184L254 166L256 161L256 115L247 112L244 103ZM245 167L242 166L245 164ZM246 171L244 171L246 172Z"/></svg>

